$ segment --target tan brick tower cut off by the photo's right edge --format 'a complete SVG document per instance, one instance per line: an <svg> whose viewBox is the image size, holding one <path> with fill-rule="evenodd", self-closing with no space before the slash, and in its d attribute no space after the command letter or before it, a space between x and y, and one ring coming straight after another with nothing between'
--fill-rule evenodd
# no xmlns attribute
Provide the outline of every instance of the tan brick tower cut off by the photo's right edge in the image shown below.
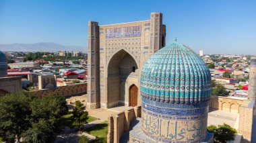
<svg viewBox="0 0 256 143"><path fill-rule="evenodd" d="M256 56L251 57L248 97L250 100L256 99Z"/></svg>

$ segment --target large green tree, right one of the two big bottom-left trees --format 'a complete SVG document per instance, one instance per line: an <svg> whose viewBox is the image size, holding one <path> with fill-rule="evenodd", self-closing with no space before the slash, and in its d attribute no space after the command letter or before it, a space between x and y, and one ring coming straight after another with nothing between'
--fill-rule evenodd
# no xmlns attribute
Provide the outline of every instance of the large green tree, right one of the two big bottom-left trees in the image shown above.
<svg viewBox="0 0 256 143"><path fill-rule="evenodd" d="M54 132L59 130L61 117L68 111L64 97L50 95L30 103L32 127L24 134L26 142L53 142Z"/></svg>

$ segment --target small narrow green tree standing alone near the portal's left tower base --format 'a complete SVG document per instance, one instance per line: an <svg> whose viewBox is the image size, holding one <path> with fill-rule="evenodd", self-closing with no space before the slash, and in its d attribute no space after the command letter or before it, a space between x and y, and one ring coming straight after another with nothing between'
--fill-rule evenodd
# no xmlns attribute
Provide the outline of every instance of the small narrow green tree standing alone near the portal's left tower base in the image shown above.
<svg viewBox="0 0 256 143"><path fill-rule="evenodd" d="M86 124L86 120L88 120L88 111L85 111L86 107L80 101L75 101L75 108L73 109L73 117L77 126L79 127L79 131L82 129L82 124Z"/></svg>

